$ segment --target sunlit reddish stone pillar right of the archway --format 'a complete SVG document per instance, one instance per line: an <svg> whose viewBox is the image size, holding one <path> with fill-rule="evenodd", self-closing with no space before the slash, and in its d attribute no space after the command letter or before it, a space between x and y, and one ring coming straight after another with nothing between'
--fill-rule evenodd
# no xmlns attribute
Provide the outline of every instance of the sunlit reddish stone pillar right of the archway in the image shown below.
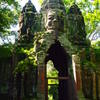
<svg viewBox="0 0 100 100"><path fill-rule="evenodd" d="M82 79L81 79L80 57L77 54L72 55L72 65L73 65L73 74L76 83L76 88L77 90L81 90Z"/></svg>

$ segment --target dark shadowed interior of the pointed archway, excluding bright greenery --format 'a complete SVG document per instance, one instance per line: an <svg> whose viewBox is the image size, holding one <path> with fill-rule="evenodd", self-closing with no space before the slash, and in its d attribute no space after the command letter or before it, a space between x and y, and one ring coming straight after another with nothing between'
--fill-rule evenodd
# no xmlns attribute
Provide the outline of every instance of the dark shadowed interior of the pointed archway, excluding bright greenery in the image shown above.
<svg viewBox="0 0 100 100"><path fill-rule="evenodd" d="M52 44L48 50L45 63L47 64L49 60L53 62L54 68L58 71L58 77L50 77L50 79L58 80L57 100L68 100L68 64L70 62L70 56L66 53L59 41ZM47 75L46 78L47 80L49 79Z"/></svg>

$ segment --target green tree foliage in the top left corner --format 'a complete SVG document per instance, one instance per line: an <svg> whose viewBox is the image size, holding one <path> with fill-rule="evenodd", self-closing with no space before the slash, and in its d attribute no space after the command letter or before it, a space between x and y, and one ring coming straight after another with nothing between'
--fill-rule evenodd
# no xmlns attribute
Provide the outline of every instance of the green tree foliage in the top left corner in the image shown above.
<svg viewBox="0 0 100 100"><path fill-rule="evenodd" d="M18 22L20 6L15 0L0 0L0 35Z"/></svg>

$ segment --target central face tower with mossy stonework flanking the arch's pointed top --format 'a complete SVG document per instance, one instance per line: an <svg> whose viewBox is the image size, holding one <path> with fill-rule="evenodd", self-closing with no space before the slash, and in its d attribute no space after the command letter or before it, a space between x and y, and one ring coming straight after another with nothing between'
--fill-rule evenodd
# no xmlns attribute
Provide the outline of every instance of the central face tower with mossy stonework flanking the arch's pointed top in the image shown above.
<svg viewBox="0 0 100 100"><path fill-rule="evenodd" d="M57 8L51 7L53 6L51 3L53 5L57 3ZM46 6L49 8L46 8ZM68 40L67 31L64 30L66 26L66 14L64 9L62 0L47 0L44 1L42 5L41 14L43 16L43 25L45 26L46 30L44 30L44 32L36 33L35 36L36 55L38 60L37 63L39 65L44 63L43 58L45 58L50 46L55 44L56 41L59 41L61 46L63 46L66 52L69 54L76 50Z"/></svg>

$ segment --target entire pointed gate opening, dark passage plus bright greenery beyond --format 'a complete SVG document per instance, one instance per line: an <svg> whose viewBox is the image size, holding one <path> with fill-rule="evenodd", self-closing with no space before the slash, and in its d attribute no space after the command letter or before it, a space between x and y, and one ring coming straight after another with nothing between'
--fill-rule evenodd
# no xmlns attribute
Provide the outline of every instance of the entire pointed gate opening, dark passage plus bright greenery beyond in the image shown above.
<svg viewBox="0 0 100 100"><path fill-rule="evenodd" d="M68 62L69 55L65 52L64 48L57 41L51 45L48 50L48 56L45 59L46 63L46 100L67 100L68 95ZM52 61L51 76L48 75L48 61ZM51 99L50 99L51 98Z"/></svg>

